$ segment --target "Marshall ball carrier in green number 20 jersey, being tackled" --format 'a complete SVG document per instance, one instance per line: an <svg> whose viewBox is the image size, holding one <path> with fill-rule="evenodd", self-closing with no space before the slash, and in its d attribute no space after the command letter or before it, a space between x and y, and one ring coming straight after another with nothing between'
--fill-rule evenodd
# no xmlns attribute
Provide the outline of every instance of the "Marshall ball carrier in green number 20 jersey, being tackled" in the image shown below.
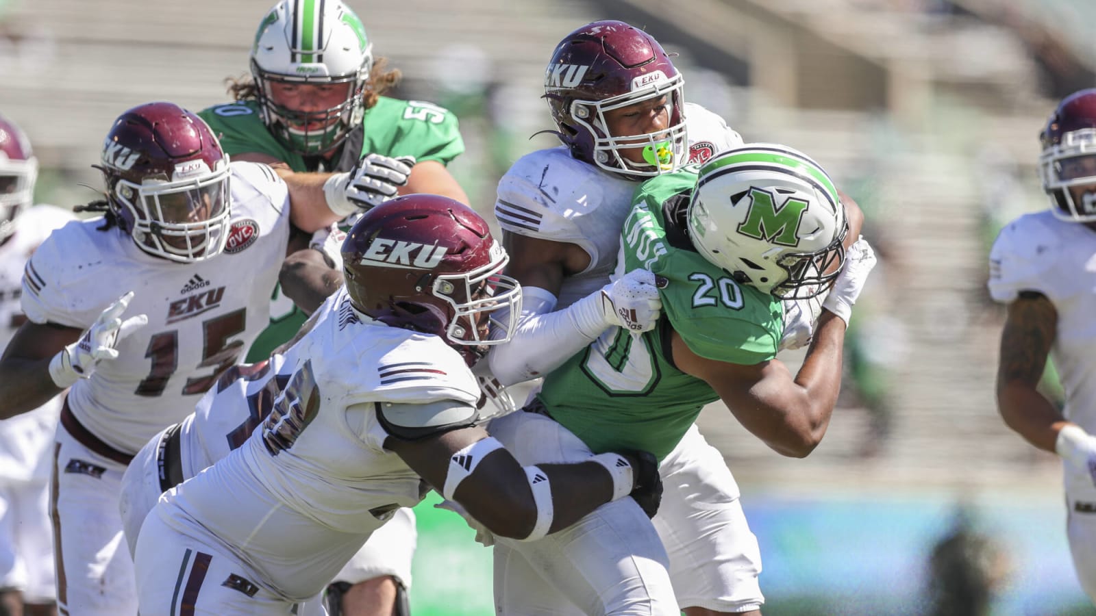
<svg viewBox="0 0 1096 616"><path fill-rule="evenodd" d="M845 259L847 230L830 178L784 146L745 145L703 166L648 180L625 221L616 271L644 267L666 278L660 288L665 317L641 335L623 328L602 333L545 378L525 412L494 420L492 434L523 464L621 447L651 450L665 463L694 430L700 409L722 400L773 449L808 455L833 412L845 326L875 264L864 240L853 243ZM831 284L813 342L794 376L776 360L785 330L783 301L817 297ZM664 480L680 480L665 468L660 472ZM703 487L688 490L695 498ZM506 566L505 577L496 575L501 613L520 602L536 606L523 613L537 614L574 607L585 614L630 614L629 606L640 604L651 614L676 614L678 604L695 612L716 595L683 594L676 578L670 589L673 556L659 555L667 537L717 543L705 548L717 552L717 560L690 561L695 574L705 574L705 567L726 568L723 574L747 568L724 580L724 586L704 592L742 592L751 581L755 588L750 555L719 544L722 533L731 539L735 532L752 537L741 515L738 526L709 518L709 531L720 533L705 534L687 525L686 499L663 502L654 520L666 514L657 532L633 503L621 501L543 540L501 539L495 546L496 552L504 548ZM670 526L677 518L685 524ZM688 532L697 534L681 537ZM629 559L629 554L641 558ZM557 592L537 590L548 586ZM561 596L573 605L561 605ZM738 597L749 595L723 601Z"/></svg>

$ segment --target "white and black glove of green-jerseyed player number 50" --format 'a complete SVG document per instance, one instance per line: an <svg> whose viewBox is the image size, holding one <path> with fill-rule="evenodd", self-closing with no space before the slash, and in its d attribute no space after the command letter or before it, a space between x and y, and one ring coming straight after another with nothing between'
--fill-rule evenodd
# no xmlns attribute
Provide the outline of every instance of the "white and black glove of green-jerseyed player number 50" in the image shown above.
<svg viewBox="0 0 1096 616"><path fill-rule="evenodd" d="M363 156L354 169L335 173L323 183L328 207L343 218L373 209L395 197L397 189L407 185L414 162L411 156Z"/></svg>

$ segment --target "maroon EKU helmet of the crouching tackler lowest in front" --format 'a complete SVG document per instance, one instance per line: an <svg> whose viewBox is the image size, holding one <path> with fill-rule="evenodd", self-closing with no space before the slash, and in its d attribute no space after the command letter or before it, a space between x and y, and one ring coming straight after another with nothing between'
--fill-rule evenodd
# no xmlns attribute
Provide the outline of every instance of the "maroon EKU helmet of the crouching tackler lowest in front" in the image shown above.
<svg viewBox="0 0 1096 616"><path fill-rule="evenodd" d="M366 212L342 259L354 308L439 335L469 365L482 346L509 341L522 312L521 285L501 274L506 252L479 214L448 197L406 195Z"/></svg>

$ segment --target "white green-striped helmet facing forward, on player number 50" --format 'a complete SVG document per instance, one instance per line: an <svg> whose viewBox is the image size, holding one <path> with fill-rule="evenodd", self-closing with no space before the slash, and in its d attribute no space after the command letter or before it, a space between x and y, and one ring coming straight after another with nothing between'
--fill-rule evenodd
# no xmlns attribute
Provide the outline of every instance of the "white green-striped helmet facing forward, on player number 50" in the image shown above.
<svg viewBox="0 0 1096 616"><path fill-rule="evenodd" d="M286 147L301 155L336 148L362 124L362 92L370 70L373 44L365 26L339 0L282 0L259 24L251 48L251 75L263 122ZM304 112L277 104L271 98L273 82L349 87L341 104Z"/></svg>

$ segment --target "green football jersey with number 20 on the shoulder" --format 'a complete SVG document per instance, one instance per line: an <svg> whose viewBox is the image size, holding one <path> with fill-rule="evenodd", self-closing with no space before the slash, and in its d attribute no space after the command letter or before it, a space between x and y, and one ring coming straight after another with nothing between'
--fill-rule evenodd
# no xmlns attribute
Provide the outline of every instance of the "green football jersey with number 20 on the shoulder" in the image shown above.
<svg viewBox="0 0 1096 616"><path fill-rule="evenodd" d="M624 271L669 280L658 327L636 338L613 328L545 378L538 395L556 421L594 453L644 449L661 460L719 396L677 369L671 335L701 357L753 365L776 356L784 309L769 294L735 283L692 248L684 231L695 168L644 182L621 238ZM619 266L618 266L619 271Z"/></svg>

